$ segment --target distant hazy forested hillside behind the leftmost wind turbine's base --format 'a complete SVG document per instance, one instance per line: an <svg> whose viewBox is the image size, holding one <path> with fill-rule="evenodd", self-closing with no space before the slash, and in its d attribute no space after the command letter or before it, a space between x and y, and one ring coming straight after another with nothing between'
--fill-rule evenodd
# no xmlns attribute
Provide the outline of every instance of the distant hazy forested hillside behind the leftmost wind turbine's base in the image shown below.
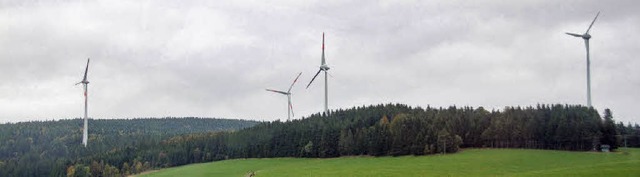
<svg viewBox="0 0 640 177"><path fill-rule="evenodd" d="M65 175L69 164L95 154L149 148L183 134L238 130L256 121L209 118L89 120L89 146L81 145L82 119L0 124L0 176Z"/></svg>

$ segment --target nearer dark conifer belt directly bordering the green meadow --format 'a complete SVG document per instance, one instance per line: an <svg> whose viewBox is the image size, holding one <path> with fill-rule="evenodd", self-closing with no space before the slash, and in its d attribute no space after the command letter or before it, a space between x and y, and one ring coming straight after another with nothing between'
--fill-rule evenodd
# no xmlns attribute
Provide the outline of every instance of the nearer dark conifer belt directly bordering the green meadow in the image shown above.
<svg viewBox="0 0 640 177"><path fill-rule="evenodd" d="M117 148L75 153L78 155L68 157L63 166L49 168L55 171L50 175L125 176L234 158L428 155L455 153L460 148L591 151L602 144L615 150L624 143L640 147L638 124L616 124L609 109L601 117L595 109L580 105L486 110L379 104L252 125L237 131L158 137L147 129L144 131L149 132L140 134L149 137L123 139L133 142L119 142ZM145 142L145 138L153 141Z"/></svg>

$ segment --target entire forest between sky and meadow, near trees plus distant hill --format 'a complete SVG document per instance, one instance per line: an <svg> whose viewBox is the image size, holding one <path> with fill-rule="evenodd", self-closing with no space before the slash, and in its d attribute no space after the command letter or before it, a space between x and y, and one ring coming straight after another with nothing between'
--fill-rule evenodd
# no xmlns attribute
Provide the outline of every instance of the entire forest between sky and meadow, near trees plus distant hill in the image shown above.
<svg viewBox="0 0 640 177"><path fill-rule="evenodd" d="M157 121L154 123L154 121ZM299 120L81 120L0 125L0 176L123 176L233 158L401 156L460 148L599 150L640 147L640 126L579 105L361 106ZM238 130L240 129L240 130Z"/></svg>

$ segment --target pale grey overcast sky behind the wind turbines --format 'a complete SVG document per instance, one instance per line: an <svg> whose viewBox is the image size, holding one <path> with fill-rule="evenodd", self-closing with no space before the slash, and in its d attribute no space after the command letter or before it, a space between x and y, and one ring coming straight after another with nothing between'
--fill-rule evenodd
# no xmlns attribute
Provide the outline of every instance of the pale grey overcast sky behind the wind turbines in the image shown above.
<svg viewBox="0 0 640 177"><path fill-rule="evenodd" d="M286 120L329 109L586 105L640 123L640 1L0 0L0 123Z"/></svg>

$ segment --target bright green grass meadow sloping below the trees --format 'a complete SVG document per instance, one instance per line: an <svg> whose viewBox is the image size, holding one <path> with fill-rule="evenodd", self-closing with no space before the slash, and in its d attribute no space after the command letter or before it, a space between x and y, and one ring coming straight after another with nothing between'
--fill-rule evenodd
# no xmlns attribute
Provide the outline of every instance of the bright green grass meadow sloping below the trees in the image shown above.
<svg viewBox="0 0 640 177"><path fill-rule="evenodd" d="M640 176L640 149L616 153L466 149L447 155L236 159L162 169L143 176Z"/></svg>

